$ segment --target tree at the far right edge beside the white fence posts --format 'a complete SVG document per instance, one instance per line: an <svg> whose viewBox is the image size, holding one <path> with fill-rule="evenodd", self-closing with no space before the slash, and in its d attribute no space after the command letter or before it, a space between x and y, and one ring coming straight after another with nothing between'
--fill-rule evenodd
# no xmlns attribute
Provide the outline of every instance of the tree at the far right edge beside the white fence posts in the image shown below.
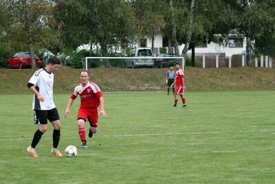
<svg viewBox="0 0 275 184"><path fill-rule="evenodd" d="M252 65L252 42L260 52L270 52L274 48L270 41L274 40L275 3L270 0L232 0L230 6L235 14L232 28L246 37L246 61Z"/></svg>

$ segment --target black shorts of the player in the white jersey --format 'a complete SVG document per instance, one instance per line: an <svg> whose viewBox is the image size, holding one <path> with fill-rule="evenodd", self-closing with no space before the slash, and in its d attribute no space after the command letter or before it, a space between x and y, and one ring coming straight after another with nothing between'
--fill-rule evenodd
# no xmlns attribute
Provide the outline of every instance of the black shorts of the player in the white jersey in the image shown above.
<svg viewBox="0 0 275 184"><path fill-rule="evenodd" d="M56 108L52 110L34 110L34 124L47 124L47 120L51 123L53 121L58 121L59 114Z"/></svg>

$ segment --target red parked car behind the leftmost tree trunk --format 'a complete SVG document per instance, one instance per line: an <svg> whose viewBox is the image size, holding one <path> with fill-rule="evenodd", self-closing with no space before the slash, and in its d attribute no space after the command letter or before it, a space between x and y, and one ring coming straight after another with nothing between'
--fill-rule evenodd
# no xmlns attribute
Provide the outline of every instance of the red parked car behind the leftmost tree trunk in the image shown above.
<svg viewBox="0 0 275 184"><path fill-rule="evenodd" d="M40 67L42 62L34 54L36 66ZM30 52L17 52L12 58L7 59L7 68L27 68L31 66Z"/></svg>

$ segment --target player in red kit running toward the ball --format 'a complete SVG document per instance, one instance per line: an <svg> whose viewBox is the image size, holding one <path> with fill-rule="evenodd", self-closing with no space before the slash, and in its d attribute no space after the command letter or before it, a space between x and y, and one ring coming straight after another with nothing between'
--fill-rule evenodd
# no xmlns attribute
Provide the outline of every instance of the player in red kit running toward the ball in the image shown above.
<svg viewBox="0 0 275 184"><path fill-rule="evenodd" d="M71 108L74 103L74 99L80 96L80 108L78 110L78 134L83 145L81 148L87 148L86 134L85 134L85 122L88 120L89 127L89 138L97 132L98 127L98 114L102 114L103 117L107 117L104 111L104 99L100 88L95 83L89 81L89 73L87 70L80 72L81 83L74 88L67 108L65 110L65 117L70 114L69 108ZM100 112L98 112L98 107L100 106Z"/></svg>

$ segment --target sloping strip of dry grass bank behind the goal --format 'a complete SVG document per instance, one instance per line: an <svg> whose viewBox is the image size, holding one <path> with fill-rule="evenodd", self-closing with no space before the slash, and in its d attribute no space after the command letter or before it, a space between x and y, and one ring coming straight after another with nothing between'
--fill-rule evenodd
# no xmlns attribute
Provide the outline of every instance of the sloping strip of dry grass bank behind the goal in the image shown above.
<svg viewBox="0 0 275 184"><path fill-rule="evenodd" d="M164 92L168 68L89 68L91 81L103 92ZM81 69L61 67L54 73L54 94L74 90ZM31 69L0 69L0 94L30 94ZM185 68L188 92L275 91L275 68Z"/></svg>

